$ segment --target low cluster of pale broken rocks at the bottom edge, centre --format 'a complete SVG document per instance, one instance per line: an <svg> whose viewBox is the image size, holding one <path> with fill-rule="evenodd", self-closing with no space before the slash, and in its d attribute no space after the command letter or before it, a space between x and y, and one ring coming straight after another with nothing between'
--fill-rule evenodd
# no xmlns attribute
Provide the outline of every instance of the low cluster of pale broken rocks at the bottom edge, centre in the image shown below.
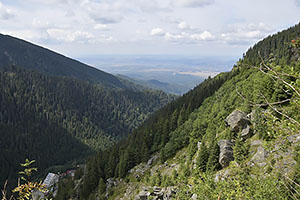
<svg viewBox="0 0 300 200"><path fill-rule="evenodd" d="M144 187L134 200L148 200L148 199L161 199L170 200L175 197L176 191L174 187L160 188L160 187Z"/></svg>

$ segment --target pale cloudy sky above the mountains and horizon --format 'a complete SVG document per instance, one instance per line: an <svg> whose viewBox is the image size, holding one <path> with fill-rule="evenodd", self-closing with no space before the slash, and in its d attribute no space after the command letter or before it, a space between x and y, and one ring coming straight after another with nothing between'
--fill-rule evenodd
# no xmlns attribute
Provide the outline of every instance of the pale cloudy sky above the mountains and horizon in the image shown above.
<svg viewBox="0 0 300 200"><path fill-rule="evenodd" d="M299 21L300 0L0 0L0 33L71 57L240 57Z"/></svg>

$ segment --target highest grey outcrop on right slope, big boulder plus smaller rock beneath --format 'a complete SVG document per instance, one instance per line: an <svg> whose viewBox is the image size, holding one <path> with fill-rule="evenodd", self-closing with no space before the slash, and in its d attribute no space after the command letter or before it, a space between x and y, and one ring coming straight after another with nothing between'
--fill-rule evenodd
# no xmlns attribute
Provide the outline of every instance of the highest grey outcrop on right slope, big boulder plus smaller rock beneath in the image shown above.
<svg viewBox="0 0 300 200"><path fill-rule="evenodd" d="M247 114L240 110L233 111L225 119L225 122L236 133L241 131L242 138L248 138L252 134L252 130L250 129L250 120L247 117Z"/></svg>

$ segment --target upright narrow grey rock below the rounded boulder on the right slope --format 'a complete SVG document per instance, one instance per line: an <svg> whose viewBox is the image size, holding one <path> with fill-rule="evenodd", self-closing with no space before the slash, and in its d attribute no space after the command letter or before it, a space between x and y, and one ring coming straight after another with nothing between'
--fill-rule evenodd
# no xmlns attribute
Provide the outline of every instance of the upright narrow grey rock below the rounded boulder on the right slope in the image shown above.
<svg viewBox="0 0 300 200"><path fill-rule="evenodd" d="M231 140L220 140L218 142L220 147L219 163L223 168L227 167L230 161L233 161L233 149L234 143Z"/></svg>

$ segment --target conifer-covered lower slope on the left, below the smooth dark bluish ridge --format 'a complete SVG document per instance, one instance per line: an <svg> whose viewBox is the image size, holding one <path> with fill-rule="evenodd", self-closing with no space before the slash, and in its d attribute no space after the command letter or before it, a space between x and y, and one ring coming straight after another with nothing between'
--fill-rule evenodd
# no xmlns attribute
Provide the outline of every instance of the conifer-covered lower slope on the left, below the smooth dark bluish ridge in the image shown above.
<svg viewBox="0 0 300 200"><path fill-rule="evenodd" d="M0 83L2 183L28 157L42 171L104 150L174 98L14 66L0 70Z"/></svg>

